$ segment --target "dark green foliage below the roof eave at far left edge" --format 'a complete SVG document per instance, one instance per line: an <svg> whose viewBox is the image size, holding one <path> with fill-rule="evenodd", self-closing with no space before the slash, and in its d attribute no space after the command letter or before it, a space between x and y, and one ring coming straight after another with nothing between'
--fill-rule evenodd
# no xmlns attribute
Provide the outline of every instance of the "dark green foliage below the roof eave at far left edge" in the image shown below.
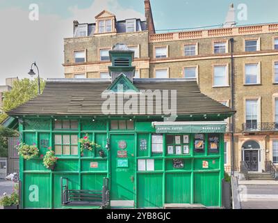
<svg viewBox="0 0 278 223"><path fill-rule="evenodd" d="M19 133L0 125L0 157L8 157L8 137L19 137Z"/></svg>

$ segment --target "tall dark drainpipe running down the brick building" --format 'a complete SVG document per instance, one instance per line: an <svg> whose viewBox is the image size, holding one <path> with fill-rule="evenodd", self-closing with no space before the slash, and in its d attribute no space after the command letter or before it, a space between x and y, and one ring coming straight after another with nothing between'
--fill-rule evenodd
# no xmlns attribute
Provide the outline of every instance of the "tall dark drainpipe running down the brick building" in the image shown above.
<svg viewBox="0 0 278 223"><path fill-rule="evenodd" d="M231 47L231 109L235 110L235 78L234 78L234 38L229 39ZM231 117L231 176L234 176L234 132L236 117Z"/></svg>

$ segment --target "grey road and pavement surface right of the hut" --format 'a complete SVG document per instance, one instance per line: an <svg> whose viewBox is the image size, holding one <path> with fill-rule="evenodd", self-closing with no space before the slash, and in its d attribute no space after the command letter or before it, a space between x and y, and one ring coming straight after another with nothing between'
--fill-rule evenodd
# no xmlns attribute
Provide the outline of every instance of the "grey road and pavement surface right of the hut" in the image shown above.
<svg viewBox="0 0 278 223"><path fill-rule="evenodd" d="M263 182L252 181L255 182L245 185L245 182L241 182L238 186L242 208L278 209L278 184L270 185L269 182L264 182L268 185L262 185Z"/></svg>

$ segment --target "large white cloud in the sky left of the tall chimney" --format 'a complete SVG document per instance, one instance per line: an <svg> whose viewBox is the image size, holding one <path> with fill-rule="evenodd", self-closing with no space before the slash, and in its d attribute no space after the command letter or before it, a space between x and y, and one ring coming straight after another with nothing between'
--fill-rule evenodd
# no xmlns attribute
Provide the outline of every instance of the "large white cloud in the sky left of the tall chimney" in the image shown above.
<svg viewBox="0 0 278 223"><path fill-rule="evenodd" d="M36 61L44 79L63 76L63 38L72 36L72 21L95 22L102 10L111 11L117 20L144 15L133 9L123 8L115 0L95 0L89 8L69 8L72 17L62 19L58 15L42 15L40 20L28 20L28 8L0 10L0 85L6 77L28 77L31 63Z"/></svg>

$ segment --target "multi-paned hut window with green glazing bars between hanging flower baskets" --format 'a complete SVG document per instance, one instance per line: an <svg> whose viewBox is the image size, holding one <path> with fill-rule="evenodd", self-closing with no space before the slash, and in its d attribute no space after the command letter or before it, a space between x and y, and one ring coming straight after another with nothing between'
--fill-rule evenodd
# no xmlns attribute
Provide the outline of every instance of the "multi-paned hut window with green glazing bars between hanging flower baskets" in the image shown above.
<svg viewBox="0 0 278 223"><path fill-rule="evenodd" d="M79 155L78 134L54 134L54 151L56 155Z"/></svg>

